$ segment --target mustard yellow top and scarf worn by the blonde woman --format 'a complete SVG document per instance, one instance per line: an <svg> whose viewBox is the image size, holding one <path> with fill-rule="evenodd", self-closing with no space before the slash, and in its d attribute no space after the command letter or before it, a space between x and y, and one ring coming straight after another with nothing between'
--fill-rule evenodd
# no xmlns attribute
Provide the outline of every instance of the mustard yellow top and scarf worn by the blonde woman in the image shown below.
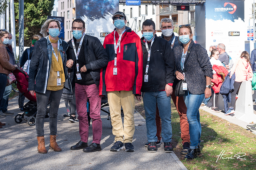
<svg viewBox="0 0 256 170"><path fill-rule="evenodd" d="M58 48L53 48L53 49L54 49L55 53L58 51ZM60 72L59 77L58 77L57 71ZM57 86L58 78L61 79L60 86ZM52 90L52 91L61 90L64 88L64 83L65 83L65 74L64 74L64 69L63 69L60 52L58 53L58 61L52 52L52 64L51 64L50 76L49 76L48 84L47 84L47 90Z"/></svg>

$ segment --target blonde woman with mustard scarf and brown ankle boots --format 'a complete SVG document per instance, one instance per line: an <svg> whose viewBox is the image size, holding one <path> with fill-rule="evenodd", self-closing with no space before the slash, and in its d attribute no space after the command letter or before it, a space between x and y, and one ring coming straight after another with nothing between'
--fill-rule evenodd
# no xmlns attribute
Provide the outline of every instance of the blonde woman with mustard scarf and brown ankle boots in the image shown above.
<svg viewBox="0 0 256 170"><path fill-rule="evenodd" d="M44 141L44 117L49 100L50 149L61 151L56 142L60 98L64 87L72 91L66 67L68 44L58 38L60 29L58 20L45 21L40 32L44 38L36 41L30 62L28 90L32 95L36 94L36 133L39 153L47 153Z"/></svg>

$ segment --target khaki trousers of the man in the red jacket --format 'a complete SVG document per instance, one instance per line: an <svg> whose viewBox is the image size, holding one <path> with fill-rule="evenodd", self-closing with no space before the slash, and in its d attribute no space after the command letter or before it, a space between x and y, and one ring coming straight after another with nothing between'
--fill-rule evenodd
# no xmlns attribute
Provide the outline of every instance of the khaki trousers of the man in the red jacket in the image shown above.
<svg viewBox="0 0 256 170"><path fill-rule="evenodd" d="M108 104L115 141L132 143L134 135L135 99L132 91L109 91ZM124 125L121 118L121 106L124 110Z"/></svg>

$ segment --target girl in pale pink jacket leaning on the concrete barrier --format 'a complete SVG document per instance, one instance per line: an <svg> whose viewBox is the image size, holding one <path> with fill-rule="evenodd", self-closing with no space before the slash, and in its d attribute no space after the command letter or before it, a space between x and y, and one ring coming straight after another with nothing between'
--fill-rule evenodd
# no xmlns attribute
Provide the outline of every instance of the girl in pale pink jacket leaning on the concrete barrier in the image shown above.
<svg viewBox="0 0 256 170"><path fill-rule="evenodd" d="M247 51L243 51L240 58L236 60L229 77L231 78L233 74L236 75L234 91L231 92L231 104L229 110L224 115L235 113L234 106L236 103L236 92L239 90L242 81L247 81L252 78L253 72L250 63L250 54Z"/></svg>

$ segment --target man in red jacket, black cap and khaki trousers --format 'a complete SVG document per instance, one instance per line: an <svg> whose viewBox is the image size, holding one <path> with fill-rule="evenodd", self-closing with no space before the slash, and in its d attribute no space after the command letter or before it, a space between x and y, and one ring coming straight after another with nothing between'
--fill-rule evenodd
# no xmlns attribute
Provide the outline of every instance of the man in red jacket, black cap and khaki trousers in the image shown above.
<svg viewBox="0 0 256 170"><path fill-rule="evenodd" d="M103 43L109 62L101 72L100 95L108 95L112 132L116 136L110 151L120 151L125 146L125 151L133 152L134 95L141 95L142 48L140 37L125 26L127 21L123 12L116 12L112 19L116 28ZM124 110L124 125L121 107Z"/></svg>

